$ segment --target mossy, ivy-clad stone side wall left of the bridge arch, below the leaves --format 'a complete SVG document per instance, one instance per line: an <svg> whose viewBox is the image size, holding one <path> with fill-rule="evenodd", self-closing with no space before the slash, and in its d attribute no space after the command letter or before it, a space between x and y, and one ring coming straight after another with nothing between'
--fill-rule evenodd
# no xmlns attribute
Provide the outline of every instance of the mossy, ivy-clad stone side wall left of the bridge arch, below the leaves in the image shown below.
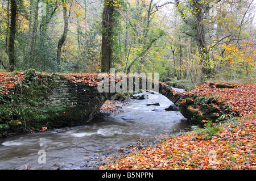
<svg viewBox="0 0 256 181"><path fill-rule="evenodd" d="M63 75L39 75L27 71L26 78L0 99L2 133L81 125L100 110L108 93L97 86L68 81Z"/></svg>

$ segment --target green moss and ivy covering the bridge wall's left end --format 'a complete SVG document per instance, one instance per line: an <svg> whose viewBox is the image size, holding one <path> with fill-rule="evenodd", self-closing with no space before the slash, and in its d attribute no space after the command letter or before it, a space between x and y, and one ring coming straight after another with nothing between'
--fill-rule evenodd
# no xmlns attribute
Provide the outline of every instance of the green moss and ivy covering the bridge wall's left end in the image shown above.
<svg viewBox="0 0 256 181"><path fill-rule="evenodd" d="M28 70L23 81L10 90L10 96L0 94L0 137L3 132L17 129L28 131L45 125L50 128L64 127L88 120L90 109L76 108L76 95L56 91L69 90L66 84L65 78L59 77L55 81L54 76ZM56 101L59 104L55 104Z"/></svg>

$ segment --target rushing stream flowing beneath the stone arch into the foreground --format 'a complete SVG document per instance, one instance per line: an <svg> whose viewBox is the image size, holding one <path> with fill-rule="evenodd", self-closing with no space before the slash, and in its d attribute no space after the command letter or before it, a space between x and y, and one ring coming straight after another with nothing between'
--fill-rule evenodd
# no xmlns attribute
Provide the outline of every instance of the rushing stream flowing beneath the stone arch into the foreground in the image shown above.
<svg viewBox="0 0 256 181"><path fill-rule="evenodd" d="M146 105L157 102L160 106ZM148 94L148 99L132 100L115 116L97 117L77 127L3 138L0 169L15 169L28 163L34 169L52 169L56 162L79 169L93 154L115 154L140 138L187 128L188 123L179 111L164 110L170 104L161 94ZM39 164L39 150L46 151L46 163Z"/></svg>

